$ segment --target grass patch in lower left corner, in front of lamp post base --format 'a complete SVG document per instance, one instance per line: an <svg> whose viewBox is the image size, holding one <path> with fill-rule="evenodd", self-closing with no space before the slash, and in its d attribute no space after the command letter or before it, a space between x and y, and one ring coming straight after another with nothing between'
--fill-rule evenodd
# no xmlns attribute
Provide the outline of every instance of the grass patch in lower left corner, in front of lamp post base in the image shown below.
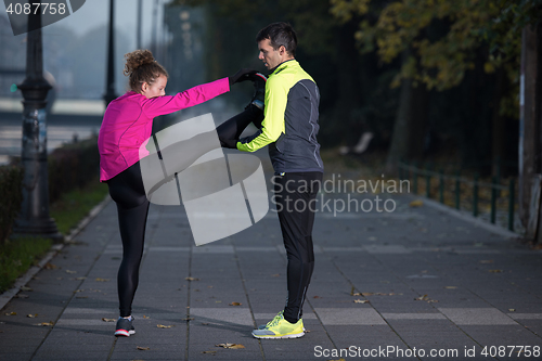
<svg viewBox="0 0 542 361"><path fill-rule="evenodd" d="M17 238L0 245L0 294L43 256L52 245L51 240Z"/></svg>

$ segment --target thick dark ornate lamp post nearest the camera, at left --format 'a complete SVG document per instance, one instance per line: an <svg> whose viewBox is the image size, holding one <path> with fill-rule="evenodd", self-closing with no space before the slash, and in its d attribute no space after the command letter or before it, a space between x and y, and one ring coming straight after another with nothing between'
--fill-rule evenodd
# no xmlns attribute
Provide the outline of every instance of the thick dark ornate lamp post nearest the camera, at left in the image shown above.
<svg viewBox="0 0 542 361"><path fill-rule="evenodd" d="M62 242L54 220L49 216L49 181L47 166L47 93L51 86L43 78L41 14L28 15L26 42L26 78L18 86L23 92L23 144L21 162L24 167L23 204L13 227L13 236L38 236Z"/></svg>

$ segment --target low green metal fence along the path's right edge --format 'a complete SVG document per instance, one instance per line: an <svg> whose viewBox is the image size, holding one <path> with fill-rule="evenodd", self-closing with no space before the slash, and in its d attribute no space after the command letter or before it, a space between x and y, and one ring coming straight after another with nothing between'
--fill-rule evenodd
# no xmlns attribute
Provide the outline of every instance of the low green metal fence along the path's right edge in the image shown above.
<svg viewBox="0 0 542 361"><path fill-rule="evenodd" d="M409 179L411 180L412 191L414 194L418 194L418 178L422 178L421 181L425 181L425 196L431 197L431 179L438 180L438 201L440 203L444 203L444 183L446 181L452 181L454 184L454 206L456 209L461 209L461 185L466 184L473 189L473 216L478 217L479 215L479 192L480 189L490 190L490 221L491 223L495 223L496 218L496 199L501 197L502 191L508 191L508 219L507 219L507 228L511 231L514 231L514 206L515 206L515 179L511 178L508 181L508 185L502 185L499 176L493 176L491 179L491 183L482 182L479 180L479 175L474 176L474 180L461 177L461 173L457 171L455 176L444 175L443 170L433 171L428 169L421 169L417 167L416 163L412 163L411 165L406 162L399 163L399 178L400 179Z"/></svg>

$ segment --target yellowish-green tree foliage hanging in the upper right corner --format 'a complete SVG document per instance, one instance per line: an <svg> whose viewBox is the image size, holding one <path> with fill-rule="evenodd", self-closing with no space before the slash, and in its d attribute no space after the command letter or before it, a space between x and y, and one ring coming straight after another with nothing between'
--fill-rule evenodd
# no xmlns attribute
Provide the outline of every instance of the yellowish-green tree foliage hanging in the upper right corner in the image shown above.
<svg viewBox="0 0 542 361"><path fill-rule="evenodd" d="M341 22L363 16L356 33L362 52L376 51L389 63L406 50L392 86L411 78L439 91L460 85L476 66L482 49L483 69L503 68L517 85L521 29L542 16L540 0L332 0ZM501 112L517 117L517 87ZM511 103L516 103L512 106Z"/></svg>

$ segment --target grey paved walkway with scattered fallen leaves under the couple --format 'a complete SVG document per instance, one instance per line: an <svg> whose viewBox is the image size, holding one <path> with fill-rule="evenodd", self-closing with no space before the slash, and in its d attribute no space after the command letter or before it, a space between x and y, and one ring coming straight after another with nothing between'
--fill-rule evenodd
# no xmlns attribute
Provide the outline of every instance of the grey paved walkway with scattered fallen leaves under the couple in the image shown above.
<svg viewBox="0 0 542 361"><path fill-rule="evenodd" d="M392 199L390 214L317 215L309 332L284 340L250 336L286 296L274 211L195 247L183 208L159 206L150 210L137 334L114 337L115 323L103 321L118 315L111 202L1 310L0 360L540 359L541 252L435 207L411 208L410 196ZM228 343L244 348L216 346Z"/></svg>

